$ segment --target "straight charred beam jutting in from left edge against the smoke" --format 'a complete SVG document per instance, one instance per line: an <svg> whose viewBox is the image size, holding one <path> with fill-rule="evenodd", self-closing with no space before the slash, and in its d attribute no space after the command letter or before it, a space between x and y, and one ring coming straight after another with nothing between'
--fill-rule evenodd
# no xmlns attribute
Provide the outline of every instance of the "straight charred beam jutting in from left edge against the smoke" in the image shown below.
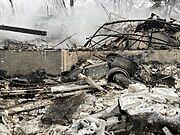
<svg viewBox="0 0 180 135"><path fill-rule="evenodd" d="M6 26L6 25L0 25L0 30L20 32L20 33L40 35L40 36L46 36L47 35L47 31L20 28L20 27L12 27L12 26Z"/></svg>

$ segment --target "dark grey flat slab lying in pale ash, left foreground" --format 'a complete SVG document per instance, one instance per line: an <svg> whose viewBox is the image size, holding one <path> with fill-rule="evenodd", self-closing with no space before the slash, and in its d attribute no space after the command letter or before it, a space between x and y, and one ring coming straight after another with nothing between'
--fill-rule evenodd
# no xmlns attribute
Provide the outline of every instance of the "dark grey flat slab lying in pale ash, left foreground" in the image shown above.
<svg viewBox="0 0 180 135"><path fill-rule="evenodd" d="M46 114L41 118L43 124L58 123L61 125L71 121L71 116L76 112L79 105L83 102L85 93L78 93L72 97L58 99L52 104Z"/></svg>

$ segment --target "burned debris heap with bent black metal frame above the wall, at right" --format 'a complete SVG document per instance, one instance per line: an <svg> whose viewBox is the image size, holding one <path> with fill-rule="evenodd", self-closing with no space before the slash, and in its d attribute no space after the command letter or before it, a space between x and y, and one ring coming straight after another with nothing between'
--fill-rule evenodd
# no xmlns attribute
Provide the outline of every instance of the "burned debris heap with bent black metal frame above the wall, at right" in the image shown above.
<svg viewBox="0 0 180 135"><path fill-rule="evenodd" d="M102 25L85 43L99 50L172 49L179 47L179 22L152 13L147 20L122 20Z"/></svg>

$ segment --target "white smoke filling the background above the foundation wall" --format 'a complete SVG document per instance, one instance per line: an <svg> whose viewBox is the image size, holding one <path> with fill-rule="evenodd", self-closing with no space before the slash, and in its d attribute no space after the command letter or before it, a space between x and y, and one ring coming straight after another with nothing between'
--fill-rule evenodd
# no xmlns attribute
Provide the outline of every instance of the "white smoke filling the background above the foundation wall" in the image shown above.
<svg viewBox="0 0 180 135"><path fill-rule="evenodd" d="M70 43L84 44L87 37L103 23L119 19L147 18L151 12L164 16L163 10L152 9L147 0L9 0L0 1L0 24L47 30L47 37L0 31L0 39L44 39L57 44L77 33ZM65 45L64 45L65 46Z"/></svg>

